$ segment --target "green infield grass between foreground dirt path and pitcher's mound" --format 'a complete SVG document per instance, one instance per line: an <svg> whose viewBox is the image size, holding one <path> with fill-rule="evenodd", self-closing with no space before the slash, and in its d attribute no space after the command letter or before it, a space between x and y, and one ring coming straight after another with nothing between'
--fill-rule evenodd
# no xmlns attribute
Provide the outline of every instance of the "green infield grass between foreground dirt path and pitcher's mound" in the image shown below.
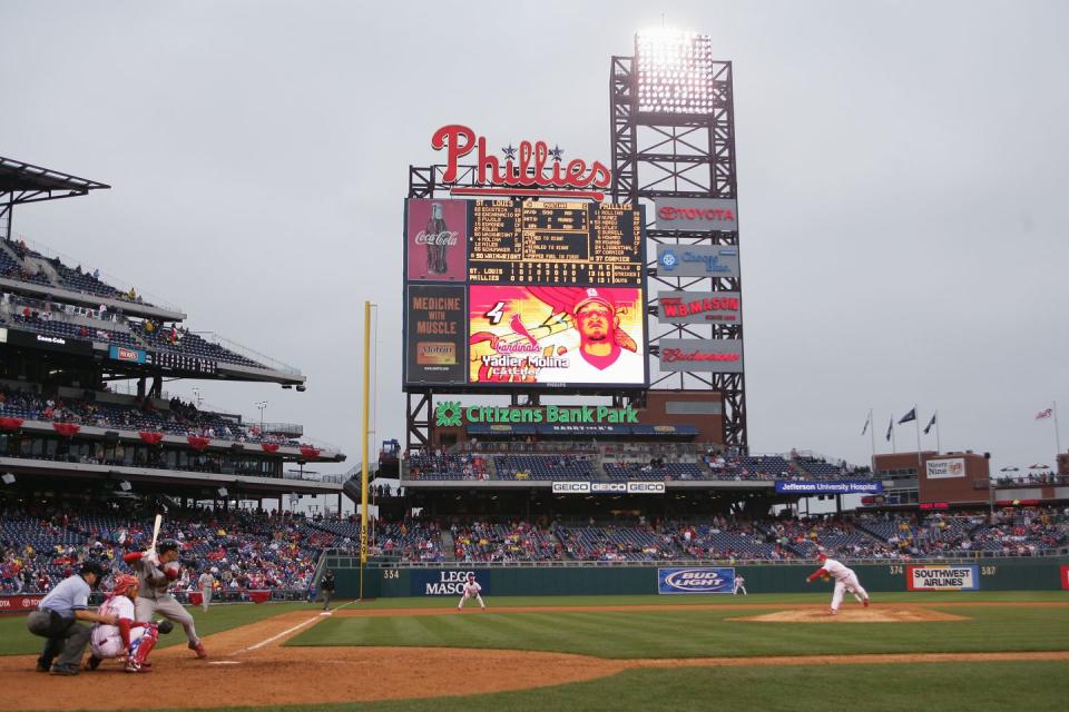
<svg viewBox="0 0 1069 712"><path fill-rule="evenodd" d="M1067 600L1059 594L1032 594L1030 597L1038 601ZM656 596L651 599L653 602L664 601ZM813 595L749 599L747 603L782 602L784 609L796 603L826 602L826 596ZM886 595L879 601L892 603L895 600L919 602L916 594ZM923 600L931 603L938 599ZM936 610L968 620L924 623L747 623L727 619L769 611L694 610L686 604L668 611L494 613L490 609L487 612L472 610L460 614L451 607L444 607L449 605L448 602L439 601L441 615L408 616L399 613L390 616L334 616L291 639L286 645L508 649L614 659L1069 650L1069 606L1014 606L1013 596L999 594L988 594L982 599L954 594L943 600L945 603L934 606ZM1007 605L954 605L955 602L984 600L1004 602ZM543 605L566 605L566 600L543 597L539 601ZM709 602L707 599L703 601ZM590 605L620 604L619 599L612 597L587 602ZM640 601L650 602L649 599ZM723 603L741 601L736 599ZM498 600L499 609L527 604L526 600Z"/></svg>

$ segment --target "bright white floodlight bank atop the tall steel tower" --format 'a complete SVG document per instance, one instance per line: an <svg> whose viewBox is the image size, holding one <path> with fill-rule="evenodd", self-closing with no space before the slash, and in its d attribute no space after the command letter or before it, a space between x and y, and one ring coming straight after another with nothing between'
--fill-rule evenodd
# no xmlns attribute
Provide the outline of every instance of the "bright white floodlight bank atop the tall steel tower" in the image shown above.
<svg viewBox="0 0 1069 712"><path fill-rule="evenodd" d="M639 113L713 113L713 41L708 34L644 30L635 36Z"/></svg>

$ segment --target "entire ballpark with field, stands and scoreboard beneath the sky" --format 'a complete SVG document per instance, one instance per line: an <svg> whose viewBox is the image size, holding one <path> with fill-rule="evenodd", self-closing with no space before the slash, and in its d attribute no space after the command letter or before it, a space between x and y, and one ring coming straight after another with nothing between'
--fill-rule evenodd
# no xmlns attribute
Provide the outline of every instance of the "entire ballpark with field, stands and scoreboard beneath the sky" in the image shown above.
<svg viewBox="0 0 1069 712"><path fill-rule="evenodd" d="M753 451L733 65L632 40L610 158L426 125L360 375L21 236L112 188L0 157L0 709L1063 708L1069 452ZM177 395L361 375L359 456Z"/></svg>

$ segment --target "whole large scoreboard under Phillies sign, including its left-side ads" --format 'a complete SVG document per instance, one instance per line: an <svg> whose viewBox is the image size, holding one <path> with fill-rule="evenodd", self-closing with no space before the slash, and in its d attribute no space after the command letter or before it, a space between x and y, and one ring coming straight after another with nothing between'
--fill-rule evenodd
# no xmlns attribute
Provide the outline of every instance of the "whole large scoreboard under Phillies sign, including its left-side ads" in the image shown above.
<svg viewBox="0 0 1069 712"><path fill-rule="evenodd" d="M405 200L406 390L641 389L641 208Z"/></svg>

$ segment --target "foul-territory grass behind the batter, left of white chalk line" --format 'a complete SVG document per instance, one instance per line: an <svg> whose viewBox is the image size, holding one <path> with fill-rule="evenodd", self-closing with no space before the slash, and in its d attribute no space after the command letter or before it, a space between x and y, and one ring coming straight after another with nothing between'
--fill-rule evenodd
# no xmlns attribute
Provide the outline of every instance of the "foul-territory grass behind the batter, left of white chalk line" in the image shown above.
<svg viewBox="0 0 1069 712"><path fill-rule="evenodd" d="M317 611L322 607L322 604L272 603L265 605L215 605L207 614L202 613L198 607L187 607L187 610L193 613L193 620L197 625L197 634L205 636L228 631L239 625L255 623L287 611ZM173 633L159 636L158 647L169 647L179 643L186 644L186 635L182 627L176 625ZM0 616L0 655L39 655L43 645L43 637L38 637L26 630L24 615Z"/></svg>

